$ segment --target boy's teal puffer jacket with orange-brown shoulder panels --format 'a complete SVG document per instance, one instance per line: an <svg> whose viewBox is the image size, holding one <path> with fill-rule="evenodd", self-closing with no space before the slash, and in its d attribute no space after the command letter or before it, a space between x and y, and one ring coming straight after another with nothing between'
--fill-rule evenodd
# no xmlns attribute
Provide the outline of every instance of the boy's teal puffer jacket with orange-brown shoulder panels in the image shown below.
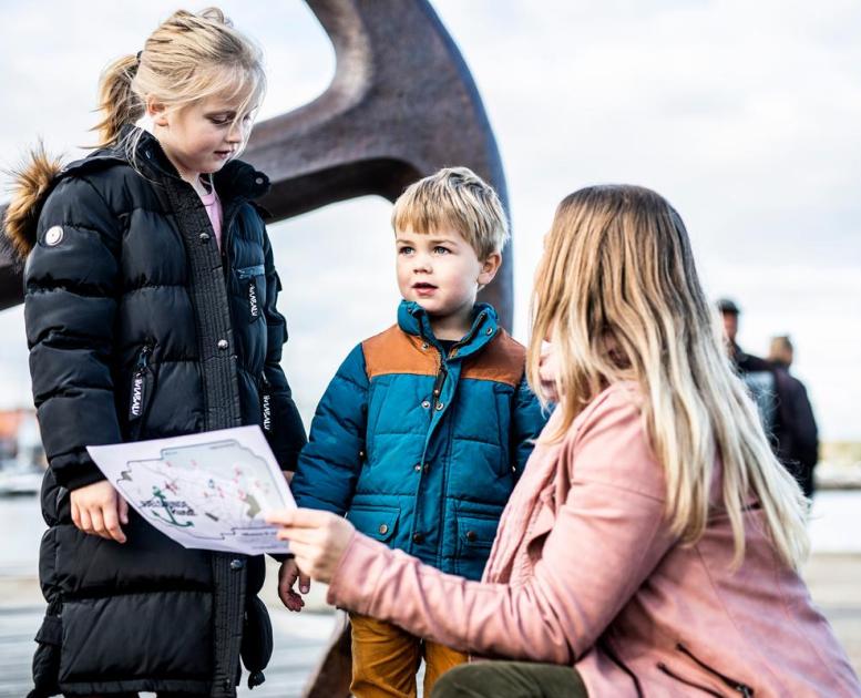
<svg viewBox="0 0 861 698"><path fill-rule="evenodd" d="M430 319L358 345L317 408L293 492L443 572L479 579L502 510L544 427L525 349L485 304L445 356Z"/></svg>

